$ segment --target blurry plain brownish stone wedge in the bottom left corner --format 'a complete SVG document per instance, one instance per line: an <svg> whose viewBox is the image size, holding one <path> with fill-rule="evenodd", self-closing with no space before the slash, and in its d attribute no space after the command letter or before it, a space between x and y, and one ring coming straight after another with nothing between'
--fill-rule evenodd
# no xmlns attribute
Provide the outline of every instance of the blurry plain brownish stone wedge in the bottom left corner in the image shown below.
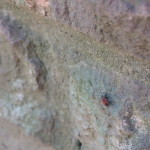
<svg viewBox="0 0 150 150"><path fill-rule="evenodd" d="M0 150L54 150L28 136L18 126L0 118Z"/></svg>

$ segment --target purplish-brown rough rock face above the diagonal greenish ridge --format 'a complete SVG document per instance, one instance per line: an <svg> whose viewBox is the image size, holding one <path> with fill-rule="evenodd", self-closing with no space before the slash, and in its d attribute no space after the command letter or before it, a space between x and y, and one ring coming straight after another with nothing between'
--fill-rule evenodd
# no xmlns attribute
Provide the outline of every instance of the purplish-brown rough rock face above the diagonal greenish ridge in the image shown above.
<svg viewBox="0 0 150 150"><path fill-rule="evenodd" d="M149 0L13 0L98 41L150 60ZM39 9L40 8L40 9Z"/></svg>

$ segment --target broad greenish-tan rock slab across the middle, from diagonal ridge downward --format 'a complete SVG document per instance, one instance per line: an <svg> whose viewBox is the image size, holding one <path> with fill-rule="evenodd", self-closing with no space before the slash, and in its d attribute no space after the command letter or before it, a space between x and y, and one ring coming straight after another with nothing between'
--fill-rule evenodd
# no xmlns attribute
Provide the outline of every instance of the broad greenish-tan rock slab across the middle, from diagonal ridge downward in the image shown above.
<svg viewBox="0 0 150 150"><path fill-rule="evenodd" d="M30 136L42 142L31 137L31 150L39 143L54 150L149 150L147 61L9 0L0 0L0 49L4 150L9 145L19 150L19 143L6 141L7 128L10 139L28 134L23 135L23 148ZM109 107L100 101L103 94ZM16 125L22 129L11 131Z"/></svg>

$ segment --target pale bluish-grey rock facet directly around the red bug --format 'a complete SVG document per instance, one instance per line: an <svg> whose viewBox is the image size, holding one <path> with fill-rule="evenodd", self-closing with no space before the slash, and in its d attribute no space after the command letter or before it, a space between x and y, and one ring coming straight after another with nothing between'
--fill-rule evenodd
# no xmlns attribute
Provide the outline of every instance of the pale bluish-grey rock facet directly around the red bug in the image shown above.
<svg viewBox="0 0 150 150"><path fill-rule="evenodd" d="M112 72L102 71L100 66L73 69L70 91L75 107L72 114L78 138L87 149L149 148L148 141L140 142L150 136L149 115L144 115L149 112L149 87L119 78ZM103 93L107 93L110 107L102 106Z"/></svg>

